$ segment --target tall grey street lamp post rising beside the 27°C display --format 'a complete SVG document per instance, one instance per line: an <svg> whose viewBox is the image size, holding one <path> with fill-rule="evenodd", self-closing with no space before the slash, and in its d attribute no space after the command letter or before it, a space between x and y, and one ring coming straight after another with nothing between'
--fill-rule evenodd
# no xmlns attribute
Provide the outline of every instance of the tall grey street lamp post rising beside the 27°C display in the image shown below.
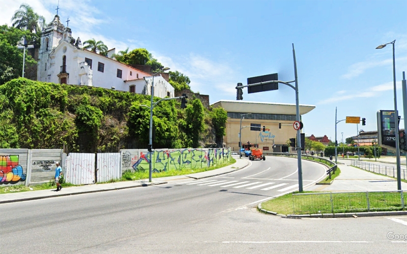
<svg viewBox="0 0 407 254"><path fill-rule="evenodd" d="M394 90L394 125L395 125L395 131L396 131L396 162L397 162L397 189L401 190L401 169L400 169L400 147L399 147L399 139L398 139L398 112L397 112L397 92L396 92L396 60L395 60L395 54L394 54L394 43L396 40L382 44L380 46L377 46L376 49L382 49L386 47L388 44L393 45L393 90Z"/></svg>

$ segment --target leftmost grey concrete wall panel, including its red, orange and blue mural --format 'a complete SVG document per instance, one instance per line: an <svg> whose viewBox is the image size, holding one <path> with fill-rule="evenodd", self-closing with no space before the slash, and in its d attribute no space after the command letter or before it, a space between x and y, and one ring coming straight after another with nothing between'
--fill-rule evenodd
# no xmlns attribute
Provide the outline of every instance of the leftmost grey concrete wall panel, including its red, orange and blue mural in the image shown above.
<svg viewBox="0 0 407 254"><path fill-rule="evenodd" d="M25 184L27 149L0 150L0 186Z"/></svg>

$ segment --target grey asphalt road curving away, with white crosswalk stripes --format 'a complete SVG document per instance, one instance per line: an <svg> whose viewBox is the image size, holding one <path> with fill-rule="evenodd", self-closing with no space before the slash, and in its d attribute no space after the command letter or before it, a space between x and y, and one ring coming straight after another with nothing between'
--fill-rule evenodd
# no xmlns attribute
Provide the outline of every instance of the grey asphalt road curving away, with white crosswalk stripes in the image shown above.
<svg viewBox="0 0 407 254"><path fill-rule="evenodd" d="M407 217L285 219L257 212L260 200L295 189L297 160L268 156L251 163L243 170L202 180L1 204L0 252L400 253L405 249L407 242L392 243L386 235L407 234ZM325 170L303 161L304 185L321 178Z"/></svg>

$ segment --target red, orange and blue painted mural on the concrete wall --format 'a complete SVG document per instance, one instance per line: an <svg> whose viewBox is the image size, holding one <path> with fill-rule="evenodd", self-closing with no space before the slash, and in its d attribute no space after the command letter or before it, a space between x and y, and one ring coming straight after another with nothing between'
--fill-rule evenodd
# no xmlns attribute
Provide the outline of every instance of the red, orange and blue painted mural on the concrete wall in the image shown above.
<svg viewBox="0 0 407 254"><path fill-rule="evenodd" d="M0 184L15 184L25 181L25 178L18 164L18 155L0 155Z"/></svg>

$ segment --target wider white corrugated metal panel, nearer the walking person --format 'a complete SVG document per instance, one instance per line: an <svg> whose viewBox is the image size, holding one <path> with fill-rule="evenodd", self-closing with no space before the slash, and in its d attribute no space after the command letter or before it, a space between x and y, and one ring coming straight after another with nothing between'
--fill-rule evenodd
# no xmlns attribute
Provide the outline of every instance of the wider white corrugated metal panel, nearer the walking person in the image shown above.
<svg viewBox="0 0 407 254"><path fill-rule="evenodd" d="M95 153L69 153L66 158L66 182L95 183Z"/></svg>

